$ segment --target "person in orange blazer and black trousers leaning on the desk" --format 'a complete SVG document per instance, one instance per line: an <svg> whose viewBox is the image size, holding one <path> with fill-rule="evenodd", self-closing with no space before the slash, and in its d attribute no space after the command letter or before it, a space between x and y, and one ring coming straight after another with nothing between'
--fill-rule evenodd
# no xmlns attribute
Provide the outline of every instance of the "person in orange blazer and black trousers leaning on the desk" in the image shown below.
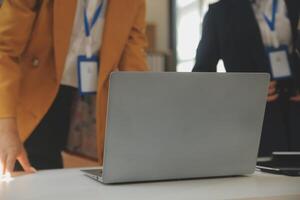
<svg viewBox="0 0 300 200"><path fill-rule="evenodd" d="M145 27L144 0L3 1L1 174L62 167L74 91L97 98L102 164L109 75L147 70Z"/></svg>

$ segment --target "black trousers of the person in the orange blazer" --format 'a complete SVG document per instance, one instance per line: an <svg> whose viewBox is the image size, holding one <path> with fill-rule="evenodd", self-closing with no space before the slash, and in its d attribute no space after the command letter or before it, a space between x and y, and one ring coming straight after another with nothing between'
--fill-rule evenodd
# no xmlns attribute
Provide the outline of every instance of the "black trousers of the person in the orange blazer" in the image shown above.
<svg viewBox="0 0 300 200"><path fill-rule="evenodd" d="M74 92L74 88L60 87L48 113L24 143L29 161L38 170L63 167L61 152L68 139ZM19 163L16 170L22 170Z"/></svg>

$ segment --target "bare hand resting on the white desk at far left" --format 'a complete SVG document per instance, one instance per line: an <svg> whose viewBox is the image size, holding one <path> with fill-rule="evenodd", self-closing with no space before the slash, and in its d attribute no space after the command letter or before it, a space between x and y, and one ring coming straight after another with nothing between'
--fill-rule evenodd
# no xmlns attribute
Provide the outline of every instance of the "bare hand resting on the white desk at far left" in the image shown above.
<svg viewBox="0 0 300 200"><path fill-rule="evenodd" d="M12 173L16 160L20 162L25 172L35 172L19 138L16 120L0 119L0 175L6 172Z"/></svg>

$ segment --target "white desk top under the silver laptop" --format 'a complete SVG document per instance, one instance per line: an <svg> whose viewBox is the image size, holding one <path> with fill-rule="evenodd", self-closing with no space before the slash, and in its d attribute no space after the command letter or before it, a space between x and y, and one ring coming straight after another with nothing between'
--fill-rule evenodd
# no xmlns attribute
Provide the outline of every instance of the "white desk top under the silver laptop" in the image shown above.
<svg viewBox="0 0 300 200"><path fill-rule="evenodd" d="M274 197L274 198L270 198ZM250 177L105 186L79 169L43 171L0 183L1 200L300 200L300 178L256 173Z"/></svg>

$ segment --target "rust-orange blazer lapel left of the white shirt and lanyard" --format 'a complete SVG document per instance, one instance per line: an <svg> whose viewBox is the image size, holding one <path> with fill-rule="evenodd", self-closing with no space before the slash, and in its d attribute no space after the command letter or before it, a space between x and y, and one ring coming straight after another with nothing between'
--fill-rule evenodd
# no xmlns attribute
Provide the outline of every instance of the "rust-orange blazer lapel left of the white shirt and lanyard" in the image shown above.
<svg viewBox="0 0 300 200"><path fill-rule="evenodd" d="M54 55L58 80L62 76L69 50L76 6L76 0L54 1Z"/></svg>

